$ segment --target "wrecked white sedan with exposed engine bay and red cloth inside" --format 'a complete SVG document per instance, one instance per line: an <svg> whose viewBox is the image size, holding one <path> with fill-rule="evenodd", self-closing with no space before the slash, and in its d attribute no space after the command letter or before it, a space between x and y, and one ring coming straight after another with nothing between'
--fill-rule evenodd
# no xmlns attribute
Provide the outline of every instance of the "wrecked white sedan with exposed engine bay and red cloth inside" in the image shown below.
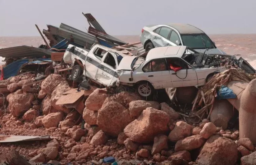
<svg viewBox="0 0 256 165"><path fill-rule="evenodd" d="M191 51L186 46L166 46L151 49L146 58L126 56L117 68L116 85L134 86L141 96L149 97L154 89L203 86L211 76L226 70L206 65L205 54Z"/></svg>

